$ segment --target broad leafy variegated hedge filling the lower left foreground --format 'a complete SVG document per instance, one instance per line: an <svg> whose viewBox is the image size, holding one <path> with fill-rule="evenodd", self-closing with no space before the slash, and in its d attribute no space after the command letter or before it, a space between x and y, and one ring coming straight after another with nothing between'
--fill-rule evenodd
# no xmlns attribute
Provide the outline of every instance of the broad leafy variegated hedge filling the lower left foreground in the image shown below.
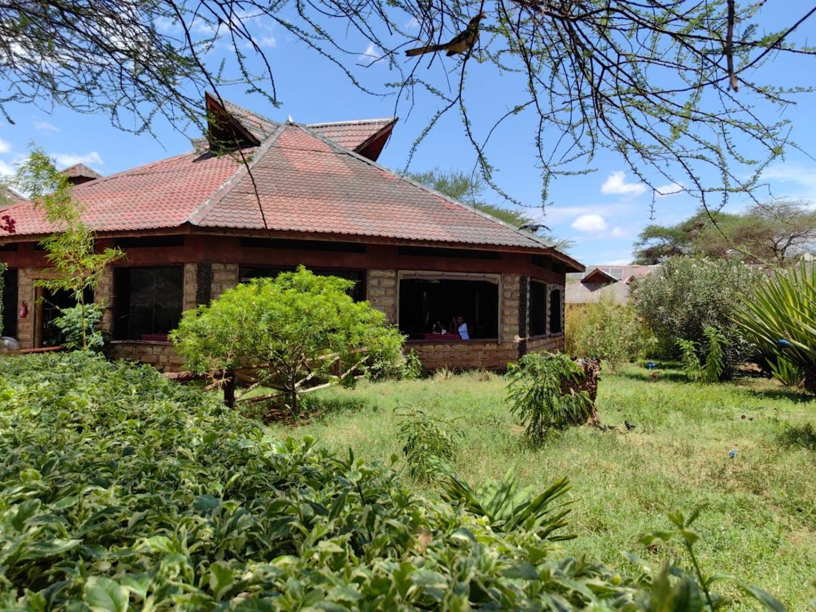
<svg viewBox="0 0 816 612"><path fill-rule="evenodd" d="M2 610L703 610L149 366L7 357L0 397Z"/></svg>

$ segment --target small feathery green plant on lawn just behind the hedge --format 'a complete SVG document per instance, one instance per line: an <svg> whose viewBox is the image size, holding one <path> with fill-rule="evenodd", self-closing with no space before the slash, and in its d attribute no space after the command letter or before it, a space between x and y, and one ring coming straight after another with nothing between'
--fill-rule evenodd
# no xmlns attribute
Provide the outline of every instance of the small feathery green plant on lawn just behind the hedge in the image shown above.
<svg viewBox="0 0 816 612"><path fill-rule="evenodd" d="M433 479L435 459L455 459L464 434L454 421L411 410L401 415L397 437L408 463L408 473L418 481Z"/></svg>

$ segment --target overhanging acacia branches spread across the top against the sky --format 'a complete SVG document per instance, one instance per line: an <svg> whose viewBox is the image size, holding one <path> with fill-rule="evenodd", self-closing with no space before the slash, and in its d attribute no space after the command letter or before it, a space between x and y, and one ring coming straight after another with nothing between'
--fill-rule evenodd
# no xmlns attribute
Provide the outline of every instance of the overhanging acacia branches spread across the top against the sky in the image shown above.
<svg viewBox="0 0 816 612"><path fill-rule="evenodd" d="M761 8L790 19L766 32ZM406 59L406 48L445 42L477 14L481 39L463 55ZM362 91L392 95L395 107L436 99L418 142L459 113L481 175L508 197L494 180L489 141L521 117L532 128L542 202L553 177L587 171L610 149L656 192L681 188L708 210L712 196L753 193L766 165L796 146L774 106L802 90L757 69L779 55L809 60L814 50L797 47L794 33L814 14L785 0L8 0L0 78L10 86L0 113L11 119L11 102L64 104L109 113L130 131L150 131L157 116L203 127L202 90L220 97L226 82L278 104L260 30L274 24ZM224 43L234 51L226 66L209 55ZM358 59L362 49L370 61ZM381 86L363 86L375 65L389 73ZM473 118L472 79L499 76L508 99L492 118Z"/></svg>

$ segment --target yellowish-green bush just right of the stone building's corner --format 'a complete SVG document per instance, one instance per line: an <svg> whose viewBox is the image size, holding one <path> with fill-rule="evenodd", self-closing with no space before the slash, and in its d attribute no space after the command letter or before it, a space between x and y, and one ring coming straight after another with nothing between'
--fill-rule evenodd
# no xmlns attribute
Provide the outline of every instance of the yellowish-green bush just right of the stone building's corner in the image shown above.
<svg viewBox="0 0 816 612"><path fill-rule="evenodd" d="M632 304L616 304L609 296L567 308L565 329L567 353L599 357L613 369L644 357L651 344Z"/></svg>

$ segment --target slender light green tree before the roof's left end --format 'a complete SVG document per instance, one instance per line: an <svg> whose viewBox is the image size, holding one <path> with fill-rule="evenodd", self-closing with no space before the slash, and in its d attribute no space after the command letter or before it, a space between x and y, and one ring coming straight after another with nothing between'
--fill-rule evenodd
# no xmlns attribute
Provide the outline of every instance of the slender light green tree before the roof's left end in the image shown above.
<svg viewBox="0 0 816 612"><path fill-rule="evenodd" d="M64 174L56 170L54 162L42 149L35 149L20 165L16 184L29 193L35 206L42 207L46 220L55 227L55 232L43 238L40 244L47 251L46 259L56 275L39 279L34 284L49 290L69 291L73 295L80 308L82 350L86 350L88 318L85 292L95 290L104 268L125 254L111 248L96 252L95 233L82 223L84 206L73 199L72 185Z"/></svg>

